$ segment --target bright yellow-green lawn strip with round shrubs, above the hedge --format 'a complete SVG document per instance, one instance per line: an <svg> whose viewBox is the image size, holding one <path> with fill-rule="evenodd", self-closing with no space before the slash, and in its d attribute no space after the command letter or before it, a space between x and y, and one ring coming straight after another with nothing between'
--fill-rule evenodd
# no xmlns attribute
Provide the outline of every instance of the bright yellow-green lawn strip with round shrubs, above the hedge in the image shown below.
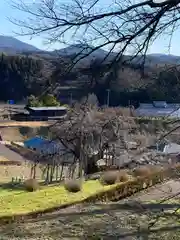
<svg viewBox="0 0 180 240"><path fill-rule="evenodd" d="M0 189L0 217L43 211L61 204L83 200L93 193L107 190L111 186L102 186L98 180L87 181L82 191L69 193L63 186L44 187L36 192Z"/></svg>

